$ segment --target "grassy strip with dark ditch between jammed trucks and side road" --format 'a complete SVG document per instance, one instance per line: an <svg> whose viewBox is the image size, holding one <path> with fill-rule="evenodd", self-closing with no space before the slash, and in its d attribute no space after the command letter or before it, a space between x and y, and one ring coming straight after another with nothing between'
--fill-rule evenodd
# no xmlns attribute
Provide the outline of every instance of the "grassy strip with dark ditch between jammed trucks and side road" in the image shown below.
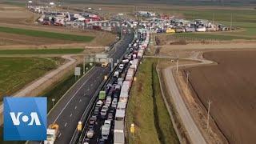
<svg viewBox="0 0 256 144"><path fill-rule="evenodd" d="M162 99L156 63L157 59L144 59L136 74L126 111L126 132L135 124L129 143L178 143Z"/></svg>

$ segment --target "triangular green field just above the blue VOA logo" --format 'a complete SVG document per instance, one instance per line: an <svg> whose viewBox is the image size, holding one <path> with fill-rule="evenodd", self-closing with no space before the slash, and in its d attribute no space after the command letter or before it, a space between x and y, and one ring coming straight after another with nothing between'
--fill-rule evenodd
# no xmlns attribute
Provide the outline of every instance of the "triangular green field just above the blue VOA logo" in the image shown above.
<svg viewBox="0 0 256 144"><path fill-rule="evenodd" d="M0 102L58 66L60 58L0 58Z"/></svg>

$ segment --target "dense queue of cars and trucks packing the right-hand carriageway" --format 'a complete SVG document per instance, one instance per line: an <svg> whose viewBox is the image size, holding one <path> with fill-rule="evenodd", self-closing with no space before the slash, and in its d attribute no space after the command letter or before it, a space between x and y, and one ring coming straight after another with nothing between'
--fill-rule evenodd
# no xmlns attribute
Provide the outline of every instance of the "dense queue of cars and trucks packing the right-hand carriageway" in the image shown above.
<svg viewBox="0 0 256 144"><path fill-rule="evenodd" d="M126 106L130 88L138 65L148 46L148 30L139 29L128 53L118 63L106 85L98 94L98 99L86 122L86 136L82 143L125 143Z"/></svg>

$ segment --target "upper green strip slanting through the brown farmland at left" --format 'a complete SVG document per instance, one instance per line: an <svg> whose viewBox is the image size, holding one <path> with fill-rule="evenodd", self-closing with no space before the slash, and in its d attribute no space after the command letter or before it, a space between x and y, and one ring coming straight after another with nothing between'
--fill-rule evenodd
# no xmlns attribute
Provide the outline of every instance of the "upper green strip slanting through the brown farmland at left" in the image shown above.
<svg viewBox="0 0 256 144"><path fill-rule="evenodd" d="M68 40L68 41L75 41L75 42L90 42L94 39L94 37L90 37L90 36L61 34L61 33L39 31L39 30L26 30L26 29L10 28L10 27L3 27L3 26L0 26L0 32L10 33L10 34L22 34L22 35L40 37L40 38L54 38L54 39Z"/></svg>

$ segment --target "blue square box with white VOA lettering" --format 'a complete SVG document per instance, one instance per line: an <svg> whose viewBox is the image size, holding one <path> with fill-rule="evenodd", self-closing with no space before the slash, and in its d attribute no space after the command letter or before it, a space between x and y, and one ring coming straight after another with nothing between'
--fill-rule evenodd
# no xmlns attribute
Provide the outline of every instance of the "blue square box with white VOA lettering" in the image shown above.
<svg viewBox="0 0 256 144"><path fill-rule="evenodd" d="M4 141L46 140L47 98L3 98Z"/></svg>

